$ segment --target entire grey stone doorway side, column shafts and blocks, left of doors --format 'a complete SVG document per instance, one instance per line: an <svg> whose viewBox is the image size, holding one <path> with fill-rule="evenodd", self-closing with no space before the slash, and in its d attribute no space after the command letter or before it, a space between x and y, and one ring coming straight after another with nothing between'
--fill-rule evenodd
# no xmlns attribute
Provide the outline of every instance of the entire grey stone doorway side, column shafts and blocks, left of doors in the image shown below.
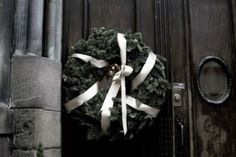
<svg viewBox="0 0 236 157"><path fill-rule="evenodd" d="M62 8L0 0L0 157L61 156Z"/></svg>

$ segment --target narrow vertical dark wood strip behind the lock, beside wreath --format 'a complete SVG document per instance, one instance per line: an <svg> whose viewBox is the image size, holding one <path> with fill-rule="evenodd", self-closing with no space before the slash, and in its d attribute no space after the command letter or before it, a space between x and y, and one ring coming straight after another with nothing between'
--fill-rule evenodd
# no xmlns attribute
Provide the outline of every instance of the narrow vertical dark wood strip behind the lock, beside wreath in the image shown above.
<svg viewBox="0 0 236 157"><path fill-rule="evenodd" d="M186 0L169 0L169 27L170 27L170 66L171 82L184 83L185 89L182 94L182 106L174 107L174 153L176 157L189 157L191 149L191 125L189 117L191 116L191 103L188 101L188 92L191 89L190 71L189 71L189 25L187 19ZM183 124L183 137L181 137L180 126ZM184 141L181 141L183 138Z"/></svg>

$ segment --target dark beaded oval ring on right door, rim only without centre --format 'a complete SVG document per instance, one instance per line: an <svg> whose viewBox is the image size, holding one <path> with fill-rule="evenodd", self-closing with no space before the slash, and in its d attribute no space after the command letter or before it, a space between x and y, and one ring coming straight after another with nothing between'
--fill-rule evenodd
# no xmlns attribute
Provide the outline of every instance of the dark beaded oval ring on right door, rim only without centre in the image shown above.
<svg viewBox="0 0 236 157"><path fill-rule="evenodd" d="M201 70L202 70L203 66L210 61L214 61L215 63L218 63L221 66L221 68L223 68L224 72L226 73L226 77L227 77L227 90L226 90L225 94L223 96L221 96L221 98L219 100L211 100L208 97L206 97L200 87L200 80L199 79L200 79ZM199 66L197 67L197 87L198 87L198 91L199 91L200 95L202 96L202 98L210 104L222 104L223 102L225 102L227 100L227 98L230 95L231 88L232 88L232 77L231 77L228 66L225 64L225 62L221 58L216 57L216 56L207 56L201 60Z"/></svg>

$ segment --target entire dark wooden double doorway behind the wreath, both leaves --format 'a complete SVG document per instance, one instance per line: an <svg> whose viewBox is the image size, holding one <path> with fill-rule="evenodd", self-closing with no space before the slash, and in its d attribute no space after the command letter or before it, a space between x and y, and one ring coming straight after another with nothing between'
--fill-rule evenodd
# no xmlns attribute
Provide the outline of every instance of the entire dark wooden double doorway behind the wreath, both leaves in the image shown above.
<svg viewBox="0 0 236 157"><path fill-rule="evenodd" d="M63 114L63 156L101 155L103 146L108 156L119 157L124 152L140 157L236 156L234 0L70 0L64 8L64 52L86 38L92 27L140 31L145 43L167 58L173 89L156 125L135 141L86 144ZM205 66L200 87L214 98L224 94L231 79L232 89L223 103L209 103L199 92L196 72L207 56L219 58L227 68L215 60L211 68ZM213 71L212 80L208 71Z"/></svg>

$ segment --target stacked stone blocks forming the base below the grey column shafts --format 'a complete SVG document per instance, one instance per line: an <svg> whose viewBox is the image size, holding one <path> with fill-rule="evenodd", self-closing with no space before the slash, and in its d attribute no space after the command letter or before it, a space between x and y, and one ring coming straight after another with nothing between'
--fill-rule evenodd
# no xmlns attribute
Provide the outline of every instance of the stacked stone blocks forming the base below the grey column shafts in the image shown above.
<svg viewBox="0 0 236 157"><path fill-rule="evenodd" d="M14 56L11 63L14 113L12 157L61 155L61 64L39 56Z"/></svg>

